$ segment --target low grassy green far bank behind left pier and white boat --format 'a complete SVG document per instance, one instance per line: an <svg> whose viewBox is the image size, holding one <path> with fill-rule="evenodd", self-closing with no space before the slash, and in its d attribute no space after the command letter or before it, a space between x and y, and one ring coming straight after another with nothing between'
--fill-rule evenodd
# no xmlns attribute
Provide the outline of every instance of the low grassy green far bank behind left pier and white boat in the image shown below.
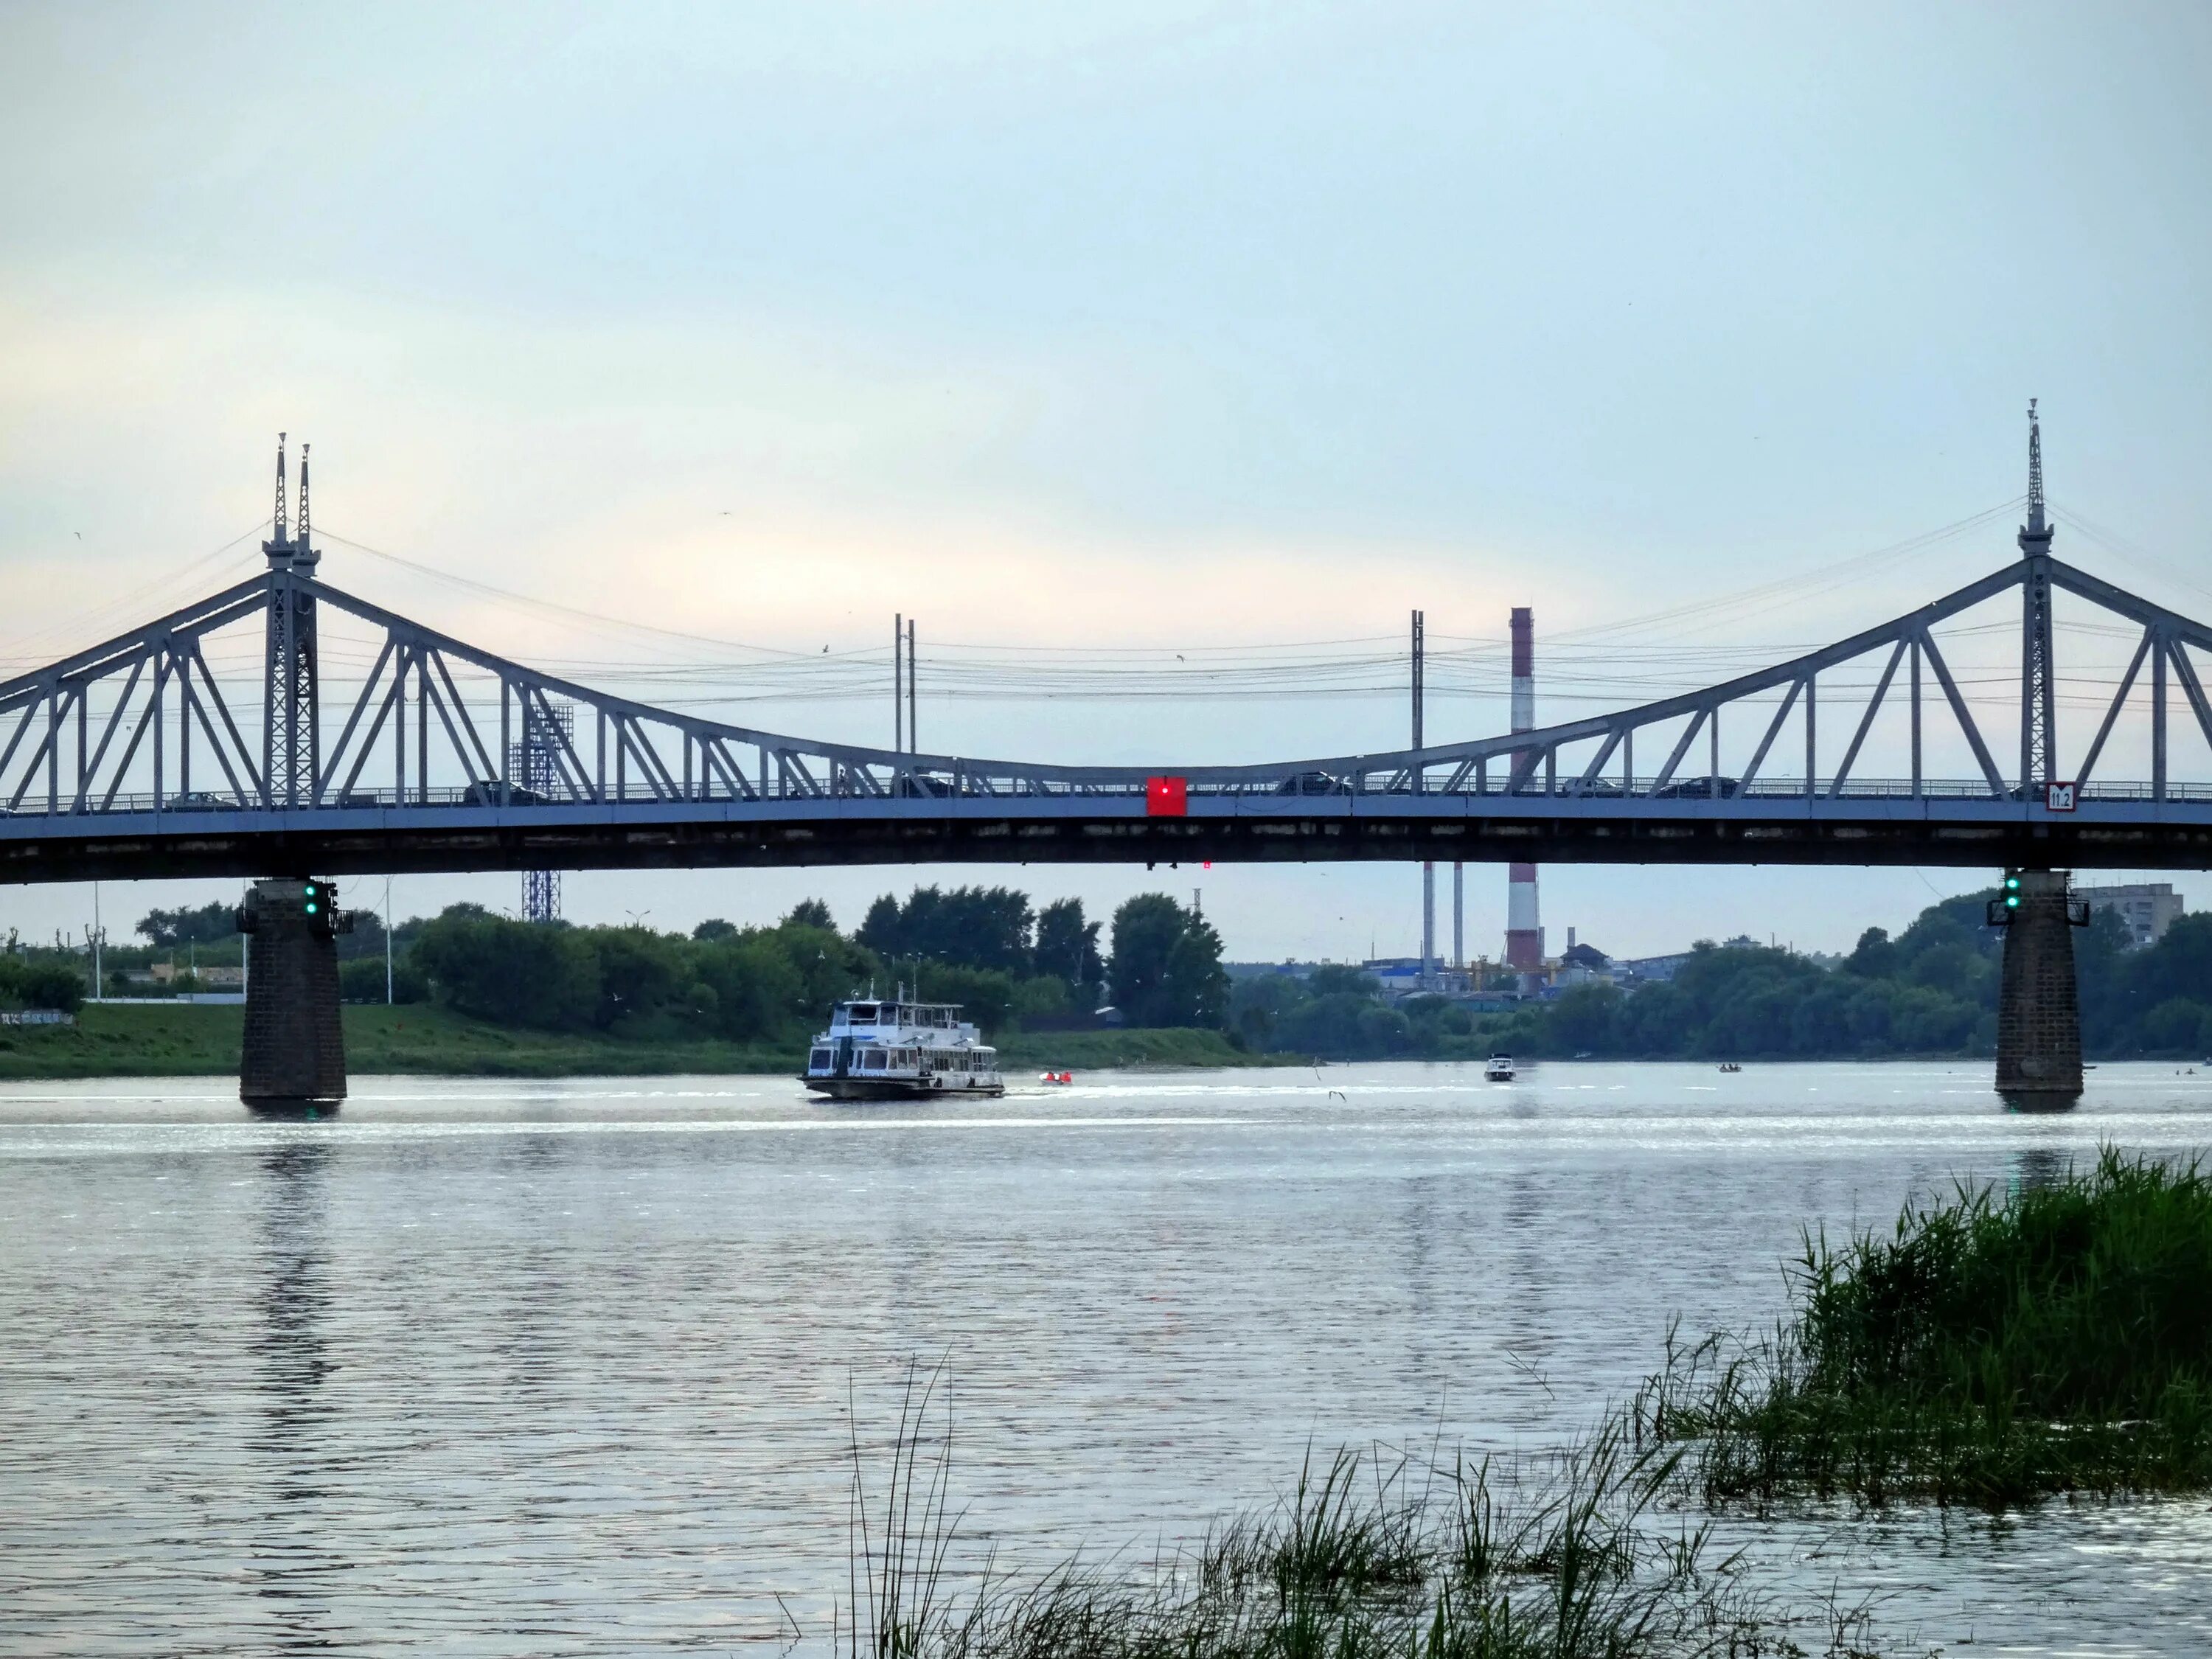
<svg viewBox="0 0 2212 1659"><path fill-rule="evenodd" d="M714 1040L622 1037L495 1026L427 1004L349 1004L345 1064L354 1075L668 1077L796 1073L805 1048ZM0 1031L0 1079L223 1077L239 1068L241 1006L86 1004L75 1026ZM1000 1044L1009 1073L1130 1066L1252 1066L1219 1031L1040 1031Z"/></svg>

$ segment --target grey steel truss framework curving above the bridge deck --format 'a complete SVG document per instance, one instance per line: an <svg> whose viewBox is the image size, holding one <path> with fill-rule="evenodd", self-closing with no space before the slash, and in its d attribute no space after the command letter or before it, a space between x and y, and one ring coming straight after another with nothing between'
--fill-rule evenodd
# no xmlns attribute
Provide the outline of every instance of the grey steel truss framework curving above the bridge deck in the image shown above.
<svg viewBox="0 0 2212 1659"><path fill-rule="evenodd" d="M2022 748L2006 776L1975 723L1936 628L2008 588L2022 588ZM1980 582L1878 628L1719 686L1639 708L1380 754L1265 765L1068 768L949 754L907 754L783 737L699 719L538 672L462 639L358 599L312 575L272 568L146 628L0 684L0 807L4 823L44 818L42 841L100 834L119 816L166 823L173 814L252 814L272 830L301 814L323 825L352 814L491 807L502 821L577 807L626 812L699 803L787 807L874 803L929 816L940 803L1093 801L1141 814L1146 779L1186 779L1190 812L1232 799L1425 796L1433 807L1537 799L1555 814L1670 803L1688 816L1741 812L1745 803L2039 803L2057 781L2051 730L2055 661L2051 595L2068 593L2141 628L2132 661L2073 774L2084 801L2208 801L2203 785L2168 776L2174 688L2185 719L2212 743L2212 706L2190 650L2212 650L2212 628L2084 571L2033 553ZM374 666L349 697L314 686L314 617L367 624ZM234 706L208 668L208 635L261 619L270 637L263 708ZM305 624L305 626L303 626ZM305 639L305 657L301 641ZM1849 741L1820 770L1823 677L1880 661L1871 699ZM2097 765L2148 666L2150 779L2101 783ZM465 686L471 695L465 695ZM1778 703L1772 708L1774 695ZM1754 699L1761 699L1754 708ZM1911 726L1905 779L1860 779L1876 714L1902 703ZM1759 743L1734 772L1721 768L1723 717L1750 719ZM1732 721L1734 726L1734 721ZM1964 739L1978 776L1929 779L1927 728ZM1657 757L1637 770L1637 745ZM1774 776L1778 754L1803 739L1803 765ZM507 763L533 750L529 783ZM1703 748L1703 768L1692 759ZM1243 810L1243 807L1239 807ZM1429 810L1425 805L1425 810ZM1486 807L1484 807L1486 810ZM336 818L327 814L338 814ZM181 830L177 823L170 830ZM148 872L150 874L150 872ZM22 878L18 874L18 878Z"/></svg>

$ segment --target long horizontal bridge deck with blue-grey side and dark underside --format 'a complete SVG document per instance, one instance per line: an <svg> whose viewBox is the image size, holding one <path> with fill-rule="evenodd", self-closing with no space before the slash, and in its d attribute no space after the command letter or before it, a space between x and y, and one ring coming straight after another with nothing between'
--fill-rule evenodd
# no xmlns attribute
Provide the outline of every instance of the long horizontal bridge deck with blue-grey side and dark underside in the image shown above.
<svg viewBox="0 0 2212 1659"><path fill-rule="evenodd" d="M1141 794L108 810L0 818L0 880L874 863L1776 863L2212 867L2212 792L2075 812L1936 787L1829 799ZM2148 796L2148 790L2141 792Z"/></svg>

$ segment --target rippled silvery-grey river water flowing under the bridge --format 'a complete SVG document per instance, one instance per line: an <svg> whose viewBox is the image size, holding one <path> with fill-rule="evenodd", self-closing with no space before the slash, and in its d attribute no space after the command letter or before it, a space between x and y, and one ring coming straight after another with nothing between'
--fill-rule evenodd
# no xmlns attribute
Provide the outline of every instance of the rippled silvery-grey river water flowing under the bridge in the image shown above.
<svg viewBox="0 0 2212 1659"><path fill-rule="evenodd" d="M774 1652L845 1593L847 1400L942 1367L1000 1562L1203 1533L1307 1447L1557 1444L1807 1223L2099 1141L1986 1064L1099 1073L927 1108L774 1077L0 1088L0 1652ZM867 1460L865 1460L867 1462ZM1787 1544L1787 1548L1783 1548ZM2212 1506L1772 1533L1949 1652L2212 1650ZM1971 1641L1971 1648L1962 1644Z"/></svg>

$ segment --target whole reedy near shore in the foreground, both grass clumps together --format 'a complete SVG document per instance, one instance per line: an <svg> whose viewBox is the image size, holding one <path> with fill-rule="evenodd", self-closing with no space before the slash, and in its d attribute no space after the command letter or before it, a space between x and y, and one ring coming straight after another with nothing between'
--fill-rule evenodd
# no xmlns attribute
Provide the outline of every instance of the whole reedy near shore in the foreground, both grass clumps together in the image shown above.
<svg viewBox="0 0 2212 1659"><path fill-rule="evenodd" d="M2062 1493L2212 1486L2199 1155L2106 1148L2035 1186L1960 1181L1836 1250L1805 1241L1772 1338L1714 1336L1688 1363L1670 1338L1661 1374L1564 1447L1307 1449L1270 1509L1148 1571L1113 1548L1029 1575L947 1571L964 1544L936 1398L949 1376L909 1363L887 1460L852 1442L854 1513L880 1524L856 1535L843 1613L876 1652L916 1659L1933 1659L1916 1635L1876 1639L1889 1595L1845 1593L1871 1559L1854 1559L1838 1495L1858 1517L1933 1500L2017 1526ZM1730 1511L1754 1517L1730 1528L1736 1548L1717 1531ZM1827 1533L1812 1551L1792 1526L1807 1517ZM1807 1562L1825 1595L1807 1595Z"/></svg>

